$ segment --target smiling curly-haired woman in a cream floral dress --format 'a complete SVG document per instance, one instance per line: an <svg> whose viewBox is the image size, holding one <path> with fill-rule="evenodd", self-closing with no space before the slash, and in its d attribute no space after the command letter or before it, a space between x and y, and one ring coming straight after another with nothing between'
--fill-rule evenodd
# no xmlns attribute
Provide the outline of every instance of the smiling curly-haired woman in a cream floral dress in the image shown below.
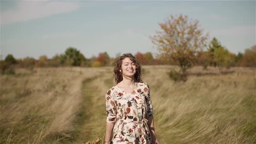
<svg viewBox="0 0 256 144"><path fill-rule="evenodd" d="M150 91L141 80L138 60L130 53L124 54L116 62L114 73L117 85L105 95L105 144L159 144Z"/></svg>

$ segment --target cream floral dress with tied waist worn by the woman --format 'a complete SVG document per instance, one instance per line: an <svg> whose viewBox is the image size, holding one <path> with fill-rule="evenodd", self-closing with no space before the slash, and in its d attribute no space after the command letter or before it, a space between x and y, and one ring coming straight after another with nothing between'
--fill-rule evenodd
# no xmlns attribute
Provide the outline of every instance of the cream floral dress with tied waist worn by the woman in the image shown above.
<svg viewBox="0 0 256 144"><path fill-rule="evenodd" d="M149 86L136 82L133 92L110 88L106 98L106 121L115 123L112 144L150 144L151 134L146 117L153 115Z"/></svg>

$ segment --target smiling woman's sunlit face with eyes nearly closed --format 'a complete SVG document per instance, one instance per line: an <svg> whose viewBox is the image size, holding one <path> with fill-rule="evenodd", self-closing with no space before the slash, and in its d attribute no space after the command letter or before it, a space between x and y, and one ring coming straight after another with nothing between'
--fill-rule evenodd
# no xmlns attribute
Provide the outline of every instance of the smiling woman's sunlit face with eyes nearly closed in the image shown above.
<svg viewBox="0 0 256 144"><path fill-rule="evenodd" d="M122 60L121 69L119 71L122 72L123 76L132 77L136 73L136 65L130 58L126 57Z"/></svg>

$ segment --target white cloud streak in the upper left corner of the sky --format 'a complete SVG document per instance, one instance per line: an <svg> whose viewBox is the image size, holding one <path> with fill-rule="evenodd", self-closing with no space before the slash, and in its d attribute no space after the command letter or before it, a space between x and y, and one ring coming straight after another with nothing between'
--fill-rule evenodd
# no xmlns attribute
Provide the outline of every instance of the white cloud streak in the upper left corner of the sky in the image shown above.
<svg viewBox="0 0 256 144"><path fill-rule="evenodd" d="M73 1L17 1L17 7L1 11L1 25L67 13L79 8Z"/></svg>

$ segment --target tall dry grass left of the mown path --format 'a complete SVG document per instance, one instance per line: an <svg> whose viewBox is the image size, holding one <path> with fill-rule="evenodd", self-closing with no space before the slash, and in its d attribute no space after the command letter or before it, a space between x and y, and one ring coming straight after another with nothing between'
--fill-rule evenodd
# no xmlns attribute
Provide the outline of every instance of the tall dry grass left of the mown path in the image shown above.
<svg viewBox="0 0 256 144"><path fill-rule="evenodd" d="M72 121L82 99L82 81L96 69L49 68L36 72L17 70L1 76L1 142L48 143L75 131Z"/></svg>

